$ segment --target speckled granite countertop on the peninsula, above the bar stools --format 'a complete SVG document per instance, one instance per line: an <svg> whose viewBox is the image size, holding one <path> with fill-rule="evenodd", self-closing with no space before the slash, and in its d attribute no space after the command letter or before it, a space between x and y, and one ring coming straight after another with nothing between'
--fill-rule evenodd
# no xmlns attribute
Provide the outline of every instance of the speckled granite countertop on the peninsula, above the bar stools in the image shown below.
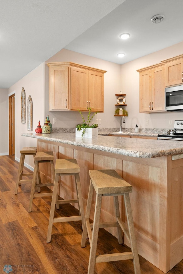
<svg viewBox="0 0 183 274"><path fill-rule="evenodd" d="M120 138L100 135L97 138L80 138L75 137L75 133L65 132L51 134L22 133L21 136L101 150L136 158L155 158L183 153L183 142L174 140Z"/></svg>

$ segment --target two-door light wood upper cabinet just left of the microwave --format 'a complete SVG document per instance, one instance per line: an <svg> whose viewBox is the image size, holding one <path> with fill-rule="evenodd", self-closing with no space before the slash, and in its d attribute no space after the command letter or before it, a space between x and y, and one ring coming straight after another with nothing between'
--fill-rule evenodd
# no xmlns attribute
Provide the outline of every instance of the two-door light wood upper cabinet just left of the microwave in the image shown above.
<svg viewBox="0 0 183 274"><path fill-rule="evenodd" d="M137 71L140 74L140 112L165 111L164 65L160 63Z"/></svg>

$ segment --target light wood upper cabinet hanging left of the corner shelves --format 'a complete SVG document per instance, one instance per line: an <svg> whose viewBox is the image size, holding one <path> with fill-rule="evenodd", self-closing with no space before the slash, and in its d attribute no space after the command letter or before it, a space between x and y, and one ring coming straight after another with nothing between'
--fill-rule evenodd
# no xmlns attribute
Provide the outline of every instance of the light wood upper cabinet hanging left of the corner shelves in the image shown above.
<svg viewBox="0 0 183 274"><path fill-rule="evenodd" d="M104 111L106 70L67 63L48 63L49 110Z"/></svg>

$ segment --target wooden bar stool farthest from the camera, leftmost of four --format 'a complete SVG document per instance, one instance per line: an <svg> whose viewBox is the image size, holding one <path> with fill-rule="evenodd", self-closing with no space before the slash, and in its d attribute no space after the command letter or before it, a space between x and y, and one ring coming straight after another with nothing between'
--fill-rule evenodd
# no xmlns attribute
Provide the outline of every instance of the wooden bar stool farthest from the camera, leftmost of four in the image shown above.
<svg viewBox="0 0 183 274"><path fill-rule="evenodd" d="M33 157L35 158L36 152L37 152L37 147L24 147L22 148L22 150L20 150L21 155L20 155L20 163L19 163L19 169L17 174L17 182L15 186L15 194L18 193L18 187L21 186L21 183L32 182L32 179L22 180L22 176L33 176L33 173L23 173L23 166L24 166L25 155L33 155ZM38 179L39 179L39 182L41 182L39 172L38 172ZM40 188L38 188L38 192L40 192Z"/></svg>

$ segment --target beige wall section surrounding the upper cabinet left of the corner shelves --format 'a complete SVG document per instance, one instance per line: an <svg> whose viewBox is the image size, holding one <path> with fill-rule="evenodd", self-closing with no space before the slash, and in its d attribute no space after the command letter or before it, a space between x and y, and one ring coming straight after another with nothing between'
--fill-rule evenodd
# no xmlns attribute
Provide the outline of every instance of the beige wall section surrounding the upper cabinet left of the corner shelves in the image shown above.
<svg viewBox="0 0 183 274"><path fill-rule="evenodd" d="M114 110L116 104L115 93L120 92L120 73L121 65L104 61L98 58L90 57L84 54L76 53L62 49L53 57L48 59L49 62L73 62L89 67L107 70L104 74L104 113L98 113L93 119L101 119L100 127L119 127L119 119L114 117ZM75 127L81 122L81 115L75 111L48 111L48 66L45 65L45 116L49 114L50 121L53 127ZM84 113L83 113L84 114ZM84 115L86 116L87 113ZM57 125L53 125L53 118L57 118ZM119 118L119 117L118 117Z"/></svg>

